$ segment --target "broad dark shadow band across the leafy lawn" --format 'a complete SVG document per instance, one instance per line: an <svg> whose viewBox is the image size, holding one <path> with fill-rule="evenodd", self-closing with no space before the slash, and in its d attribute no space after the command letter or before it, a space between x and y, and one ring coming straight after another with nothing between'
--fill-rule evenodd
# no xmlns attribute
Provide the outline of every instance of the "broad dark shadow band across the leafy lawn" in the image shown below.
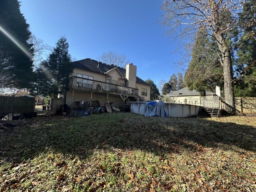
<svg viewBox="0 0 256 192"><path fill-rule="evenodd" d="M203 118L158 118L130 113L36 118L0 134L0 162L20 162L55 150L87 158L96 148L141 149L157 155L200 150L256 151L256 128Z"/></svg>

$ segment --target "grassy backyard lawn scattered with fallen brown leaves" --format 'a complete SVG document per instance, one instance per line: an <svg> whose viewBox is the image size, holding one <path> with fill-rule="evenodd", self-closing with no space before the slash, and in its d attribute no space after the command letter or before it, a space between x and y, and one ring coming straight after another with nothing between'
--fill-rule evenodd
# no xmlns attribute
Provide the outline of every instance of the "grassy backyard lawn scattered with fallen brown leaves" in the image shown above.
<svg viewBox="0 0 256 192"><path fill-rule="evenodd" d="M131 113L13 121L3 191L256 191L256 117Z"/></svg>

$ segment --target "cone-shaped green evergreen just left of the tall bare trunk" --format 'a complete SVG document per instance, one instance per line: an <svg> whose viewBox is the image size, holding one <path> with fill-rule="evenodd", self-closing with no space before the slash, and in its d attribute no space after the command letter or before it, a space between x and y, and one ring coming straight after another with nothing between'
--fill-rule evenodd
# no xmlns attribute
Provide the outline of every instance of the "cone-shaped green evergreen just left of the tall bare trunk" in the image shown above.
<svg viewBox="0 0 256 192"><path fill-rule="evenodd" d="M206 90L213 91L223 82L222 66L214 52L214 42L205 35L201 27L192 48L192 60L185 73L185 84L189 90L196 90L202 95Z"/></svg>

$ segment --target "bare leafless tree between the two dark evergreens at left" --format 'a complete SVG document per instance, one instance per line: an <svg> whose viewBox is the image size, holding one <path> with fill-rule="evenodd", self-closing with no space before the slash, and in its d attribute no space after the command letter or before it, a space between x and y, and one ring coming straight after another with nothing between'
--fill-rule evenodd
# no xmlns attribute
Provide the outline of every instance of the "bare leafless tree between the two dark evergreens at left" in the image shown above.
<svg viewBox="0 0 256 192"><path fill-rule="evenodd" d="M44 44L42 39L38 39L34 35L30 37L28 43L32 44L33 62L34 66L37 68L50 51L52 51L52 47Z"/></svg>

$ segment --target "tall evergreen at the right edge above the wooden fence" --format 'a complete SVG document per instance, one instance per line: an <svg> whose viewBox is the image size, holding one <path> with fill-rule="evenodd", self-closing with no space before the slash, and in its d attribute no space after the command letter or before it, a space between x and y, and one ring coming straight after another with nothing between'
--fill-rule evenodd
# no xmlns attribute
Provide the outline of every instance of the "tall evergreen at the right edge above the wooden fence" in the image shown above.
<svg viewBox="0 0 256 192"><path fill-rule="evenodd" d="M239 14L238 26L241 37L236 43L236 72L238 79L234 87L236 96L256 95L256 2L244 3Z"/></svg>

